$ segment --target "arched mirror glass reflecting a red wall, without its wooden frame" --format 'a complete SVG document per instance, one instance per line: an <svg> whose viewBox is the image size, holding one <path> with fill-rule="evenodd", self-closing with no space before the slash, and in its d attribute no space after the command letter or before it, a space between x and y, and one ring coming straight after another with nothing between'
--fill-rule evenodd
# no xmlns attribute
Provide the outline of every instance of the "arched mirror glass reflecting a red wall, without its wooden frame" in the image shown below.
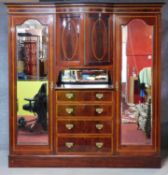
<svg viewBox="0 0 168 175"><path fill-rule="evenodd" d="M121 145L151 145L153 27L134 19L121 31Z"/></svg>

